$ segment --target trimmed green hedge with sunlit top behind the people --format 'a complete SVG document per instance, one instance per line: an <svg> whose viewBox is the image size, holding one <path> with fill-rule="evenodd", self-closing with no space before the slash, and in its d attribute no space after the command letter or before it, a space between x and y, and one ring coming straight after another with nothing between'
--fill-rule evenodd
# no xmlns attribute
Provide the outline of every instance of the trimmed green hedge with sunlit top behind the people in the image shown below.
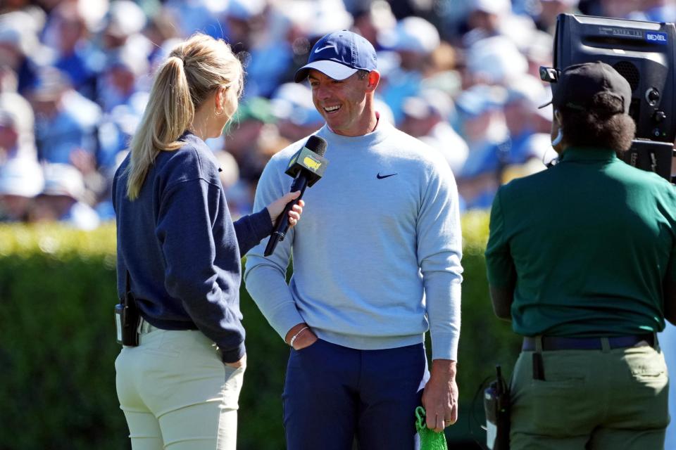
<svg viewBox="0 0 676 450"><path fill-rule="evenodd" d="M480 382L511 371L518 339L492 314L486 214L463 218L465 281L458 365L461 420L450 442L483 440L470 417ZM115 228L0 226L0 449L128 449L115 396ZM238 449L284 448L281 392L288 348L242 288L248 367ZM478 398L481 401L481 397ZM474 415L482 421L477 403Z"/></svg>

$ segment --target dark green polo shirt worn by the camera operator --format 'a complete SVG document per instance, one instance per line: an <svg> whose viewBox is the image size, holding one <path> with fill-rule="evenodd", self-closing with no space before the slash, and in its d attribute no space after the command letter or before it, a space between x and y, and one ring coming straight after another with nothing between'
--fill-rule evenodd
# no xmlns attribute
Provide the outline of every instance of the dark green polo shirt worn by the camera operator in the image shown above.
<svg viewBox="0 0 676 450"><path fill-rule="evenodd" d="M515 284L520 335L634 335L664 328L676 280L676 190L613 150L568 148L558 165L502 186L486 264Z"/></svg>

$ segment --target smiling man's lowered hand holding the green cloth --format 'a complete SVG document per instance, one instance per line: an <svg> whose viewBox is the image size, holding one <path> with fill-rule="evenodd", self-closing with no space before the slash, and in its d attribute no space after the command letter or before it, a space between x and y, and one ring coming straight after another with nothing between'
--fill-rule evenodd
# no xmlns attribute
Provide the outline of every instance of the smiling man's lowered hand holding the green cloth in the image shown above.
<svg viewBox="0 0 676 450"><path fill-rule="evenodd" d="M423 408L427 428L443 431L458 420L456 361L434 359L430 380L423 390Z"/></svg>

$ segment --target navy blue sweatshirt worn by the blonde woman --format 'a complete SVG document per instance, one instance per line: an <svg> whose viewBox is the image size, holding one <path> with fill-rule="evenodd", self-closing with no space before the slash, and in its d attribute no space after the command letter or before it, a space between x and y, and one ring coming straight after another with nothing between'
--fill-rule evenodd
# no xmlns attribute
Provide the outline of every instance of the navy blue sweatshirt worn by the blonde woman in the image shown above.
<svg viewBox="0 0 676 450"><path fill-rule="evenodd" d="M224 362L244 356L239 311L240 255L272 231L268 210L234 224L218 163L204 141L186 133L162 151L139 197L127 198L129 156L113 179L118 233L118 293L127 270L142 316L164 330L199 329Z"/></svg>

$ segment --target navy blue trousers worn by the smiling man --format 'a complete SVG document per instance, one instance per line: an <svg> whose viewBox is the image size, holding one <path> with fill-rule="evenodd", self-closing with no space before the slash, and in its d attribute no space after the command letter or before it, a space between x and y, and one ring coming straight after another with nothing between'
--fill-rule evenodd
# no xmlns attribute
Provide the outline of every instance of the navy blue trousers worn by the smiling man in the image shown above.
<svg viewBox="0 0 676 450"><path fill-rule="evenodd" d="M318 340L291 350L284 381L288 450L415 450L429 379L424 345L357 350Z"/></svg>

